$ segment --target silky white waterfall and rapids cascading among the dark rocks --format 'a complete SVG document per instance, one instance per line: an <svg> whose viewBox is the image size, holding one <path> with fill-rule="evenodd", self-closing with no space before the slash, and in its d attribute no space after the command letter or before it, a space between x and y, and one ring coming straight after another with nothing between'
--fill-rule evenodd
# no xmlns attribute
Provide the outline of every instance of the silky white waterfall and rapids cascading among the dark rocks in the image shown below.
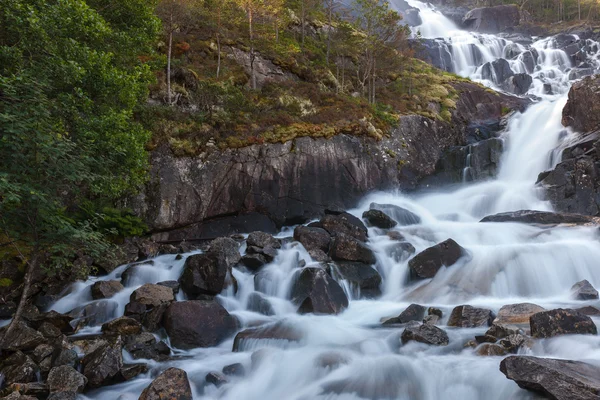
<svg viewBox="0 0 600 400"><path fill-rule="evenodd" d="M430 6L416 1L425 23L419 27L425 37L450 36L455 71L475 80L481 65L504 55L512 43L493 35L460 31ZM525 51L527 46L521 46ZM512 46L515 47L515 46ZM151 371L130 382L87 393L86 399L137 399L157 372L169 366L187 371L195 399L232 400L314 400L314 399L406 399L406 400L501 400L533 398L499 371L501 357L478 356L463 344L487 328L452 329L444 326L456 305L471 304L494 312L505 304L536 303L545 308L577 308L598 301L571 299L571 286L582 279L600 287L600 241L597 228L540 228L516 223L479 223L486 215L521 209L551 210L536 188L538 174L552 167L551 154L564 132L561 111L569 88L570 60L551 40L535 42L538 50L534 84L530 94L541 98L528 110L512 117L503 137L507 149L498 178L463 185L453 191L372 194L350 212L358 217L369 203L395 204L422 219L419 225L398 227L417 252L452 238L470 253L468 261L440 270L431 280L408 281L407 261L389 254L393 242L382 231L369 229L369 246L377 256L376 269L383 277L383 295L377 300L358 299L356 289L341 282L351 298L349 308L337 316L298 315L289 302L290 287L298 259L314 264L297 243L284 246L275 261L265 267L260 287L254 277L234 270L239 283L237 294L222 293L218 300L245 325L259 321L281 321L302 333L299 343L272 341L246 345L232 352L233 338L209 349L174 351L180 359L165 363L150 361ZM473 48L477 49L474 52ZM474 56L474 54L478 54ZM523 71L519 57L510 60L515 72ZM597 64L594 64L597 68ZM491 85L491 83L486 82ZM553 95L544 94L550 83ZM289 237L283 231L279 237ZM107 320L123 314L131 292L143 283L177 280L183 260L160 256L154 265L138 267L134 279L112 300L116 309ZM79 283L53 309L68 312L90 303L89 285L97 279L118 279L126 266L102 278ZM276 315L266 317L246 309L248 296L260 289L271 301ZM183 299L183 294L180 294ZM397 316L410 303L442 309L440 327L447 330L445 347L410 342L401 346L397 327L381 327L382 318ZM599 320L595 321L597 324ZM87 332L97 332L98 326ZM263 360L251 367L254 350L268 346ZM522 350L525 351L525 350ZM599 336L563 336L537 341L529 354L584 360L600 364ZM331 366L328 360L343 360ZM136 360L137 362L137 360ZM217 388L205 383L205 376L232 363L242 363L247 374L232 377ZM335 364L335 363L333 363Z"/></svg>

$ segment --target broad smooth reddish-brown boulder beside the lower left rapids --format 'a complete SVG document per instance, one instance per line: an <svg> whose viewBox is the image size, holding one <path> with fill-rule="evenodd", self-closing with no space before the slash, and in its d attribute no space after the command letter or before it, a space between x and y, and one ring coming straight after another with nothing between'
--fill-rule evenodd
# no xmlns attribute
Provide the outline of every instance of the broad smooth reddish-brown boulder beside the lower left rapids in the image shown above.
<svg viewBox="0 0 600 400"><path fill-rule="evenodd" d="M213 347L233 335L237 320L216 301L178 301L164 314L171 344L180 349Z"/></svg>

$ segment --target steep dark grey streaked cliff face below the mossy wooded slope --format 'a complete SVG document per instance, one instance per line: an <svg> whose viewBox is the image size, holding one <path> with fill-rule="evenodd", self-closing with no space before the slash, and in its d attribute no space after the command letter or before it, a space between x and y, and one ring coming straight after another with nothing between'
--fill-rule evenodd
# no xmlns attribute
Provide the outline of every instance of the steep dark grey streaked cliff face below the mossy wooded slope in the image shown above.
<svg viewBox="0 0 600 400"><path fill-rule="evenodd" d="M284 144L151 156L151 179L135 208L161 241L207 239L233 232L274 231L325 209L355 206L366 193L410 190L432 174L442 152L467 144L480 125L526 101L460 83L452 123L401 118L389 136L297 138Z"/></svg>

